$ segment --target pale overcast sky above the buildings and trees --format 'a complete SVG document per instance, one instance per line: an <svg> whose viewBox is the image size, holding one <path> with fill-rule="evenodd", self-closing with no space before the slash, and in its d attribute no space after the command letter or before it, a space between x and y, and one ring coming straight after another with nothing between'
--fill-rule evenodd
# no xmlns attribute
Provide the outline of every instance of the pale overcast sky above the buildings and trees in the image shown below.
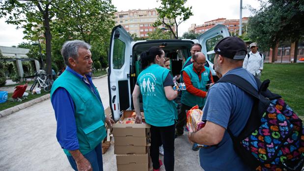
<svg viewBox="0 0 304 171"><path fill-rule="evenodd" d="M129 9L152 9L159 7L160 2L156 0L112 0L118 11ZM257 0L243 0L243 17L252 16L247 6L259 7ZM240 0L188 0L186 6L192 6L193 16L186 22L179 25L179 36L188 31L191 24L203 24L206 21L226 18L240 18ZM5 19L0 19L0 46L11 47L18 45L23 40L23 30L16 29L15 25L6 24Z"/></svg>

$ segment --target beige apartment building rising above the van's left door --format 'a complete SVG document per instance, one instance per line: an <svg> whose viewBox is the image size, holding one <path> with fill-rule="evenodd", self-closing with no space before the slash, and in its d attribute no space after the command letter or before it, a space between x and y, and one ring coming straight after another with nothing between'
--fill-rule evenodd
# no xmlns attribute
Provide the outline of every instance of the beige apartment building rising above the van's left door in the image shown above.
<svg viewBox="0 0 304 171"><path fill-rule="evenodd" d="M158 18L155 8L145 10L129 10L114 13L115 25L122 25L130 34L138 37L148 37L148 32L155 30L153 24ZM164 26L159 26L163 28Z"/></svg>

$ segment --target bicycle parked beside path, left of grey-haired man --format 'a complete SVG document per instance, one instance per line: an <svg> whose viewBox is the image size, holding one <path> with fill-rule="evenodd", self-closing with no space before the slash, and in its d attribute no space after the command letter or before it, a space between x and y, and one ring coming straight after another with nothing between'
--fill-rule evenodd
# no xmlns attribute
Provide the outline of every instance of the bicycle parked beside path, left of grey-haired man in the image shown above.
<svg viewBox="0 0 304 171"><path fill-rule="evenodd" d="M35 76L35 78L34 78L35 81L29 89L30 92L32 92L34 90L37 83L38 83L38 87L43 88L43 90L45 92L51 91L51 88L52 88L52 85L53 85L53 82L54 82L52 80L52 75L45 75L43 73L38 74L38 72L37 72L37 73L34 74L34 76Z"/></svg>

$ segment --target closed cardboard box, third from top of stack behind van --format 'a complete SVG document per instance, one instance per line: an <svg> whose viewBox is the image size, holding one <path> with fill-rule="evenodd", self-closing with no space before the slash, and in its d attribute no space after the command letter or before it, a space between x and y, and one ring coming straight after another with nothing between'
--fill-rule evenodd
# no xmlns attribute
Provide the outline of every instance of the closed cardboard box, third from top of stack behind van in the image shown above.
<svg viewBox="0 0 304 171"><path fill-rule="evenodd" d="M114 154L146 154L148 146L114 146Z"/></svg>

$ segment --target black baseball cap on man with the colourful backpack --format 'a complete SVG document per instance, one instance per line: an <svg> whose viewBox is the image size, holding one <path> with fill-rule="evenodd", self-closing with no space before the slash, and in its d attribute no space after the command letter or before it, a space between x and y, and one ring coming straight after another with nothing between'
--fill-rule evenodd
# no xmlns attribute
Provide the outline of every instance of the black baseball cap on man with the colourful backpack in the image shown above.
<svg viewBox="0 0 304 171"><path fill-rule="evenodd" d="M214 51L227 58L244 59L247 54L247 46L241 38L229 36L221 39L214 47Z"/></svg>

